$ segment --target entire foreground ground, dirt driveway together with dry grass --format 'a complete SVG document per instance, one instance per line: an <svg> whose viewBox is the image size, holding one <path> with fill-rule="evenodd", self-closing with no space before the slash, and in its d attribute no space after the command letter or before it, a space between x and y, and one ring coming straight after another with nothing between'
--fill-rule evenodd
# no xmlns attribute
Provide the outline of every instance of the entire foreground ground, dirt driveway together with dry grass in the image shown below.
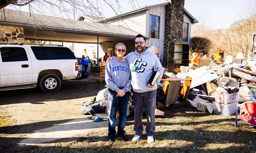
<svg viewBox="0 0 256 153"><path fill-rule="evenodd" d="M5 121L11 121L2 128L0 151L256 152L256 129L241 121L235 128L235 114L215 115L187 107L162 109L164 116L156 117L155 143L147 143L145 114L139 142L122 141L119 137L109 142L107 119L94 123L90 115L80 113L80 104L105 88L105 82L95 83L94 76L89 77L63 82L55 93L34 88L0 91L0 114L8 116ZM133 128L132 113L125 126L130 140L135 134Z"/></svg>

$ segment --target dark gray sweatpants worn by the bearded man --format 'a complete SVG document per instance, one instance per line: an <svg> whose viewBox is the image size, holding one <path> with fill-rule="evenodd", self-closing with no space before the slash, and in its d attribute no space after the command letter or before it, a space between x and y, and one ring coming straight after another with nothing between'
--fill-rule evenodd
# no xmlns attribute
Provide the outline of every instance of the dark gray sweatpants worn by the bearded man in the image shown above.
<svg viewBox="0 0 256 153"><path fill-rule="evenodd" d="M142 125L142 113L143 107L147 114L147 136L154 136L155 133L155 110L156 110L156 90L148 92L133 92L134 101L134 130L135 135L142 136L143 125Z"/></svg>

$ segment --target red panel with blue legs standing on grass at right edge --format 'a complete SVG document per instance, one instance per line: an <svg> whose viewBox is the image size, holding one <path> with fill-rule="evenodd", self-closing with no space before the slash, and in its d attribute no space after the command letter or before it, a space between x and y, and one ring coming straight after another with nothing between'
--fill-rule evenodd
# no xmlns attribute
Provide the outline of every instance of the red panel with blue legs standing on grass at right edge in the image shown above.
<svg viewBox="0 0 256 153"><path fill-rule="evenodd" d="M238 114L239 109L240 113ZM246 101L242 104L237 104L235 127L237 127L237 121L239 120L256 127L256 102Z"/></svg>

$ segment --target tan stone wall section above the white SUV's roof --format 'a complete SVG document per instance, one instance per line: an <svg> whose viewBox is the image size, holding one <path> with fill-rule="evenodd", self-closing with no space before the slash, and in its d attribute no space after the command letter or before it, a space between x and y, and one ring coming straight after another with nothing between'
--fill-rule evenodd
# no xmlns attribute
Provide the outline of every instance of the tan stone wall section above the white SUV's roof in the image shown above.
<svg viewBox="0 0 256 153"><path fill-rule="evenodd" d="M24 29L20 27L0 26L0 43L24 44Z"/></svg>

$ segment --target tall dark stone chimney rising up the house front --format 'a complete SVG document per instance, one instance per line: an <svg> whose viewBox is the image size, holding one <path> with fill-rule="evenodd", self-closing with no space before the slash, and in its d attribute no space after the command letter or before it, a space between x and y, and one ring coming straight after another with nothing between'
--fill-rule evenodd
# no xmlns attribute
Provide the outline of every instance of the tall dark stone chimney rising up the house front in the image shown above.
<svg viewBox="0 0 256 153"><path fill-rule="evenodd" d="M167 66L168 43L182 42L183 9L185 0L167 0L165 6L165 34L163 66Z"/></svg>

